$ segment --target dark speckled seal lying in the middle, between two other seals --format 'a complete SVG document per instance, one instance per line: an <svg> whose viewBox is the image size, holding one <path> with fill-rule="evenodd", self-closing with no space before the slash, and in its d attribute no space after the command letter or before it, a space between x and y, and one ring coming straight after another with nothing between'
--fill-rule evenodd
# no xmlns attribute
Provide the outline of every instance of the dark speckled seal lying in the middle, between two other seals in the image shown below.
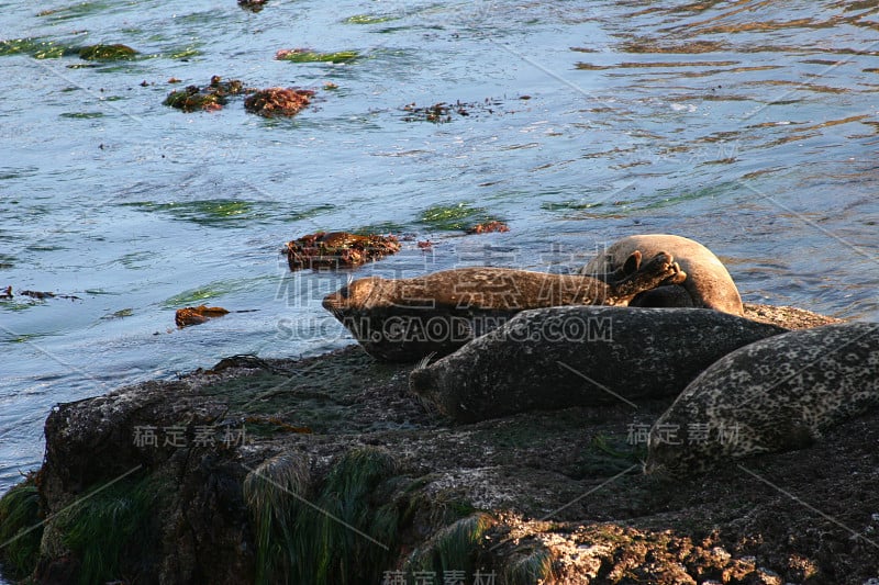
<svg viewBox="0 0 879 585"><path fill-rule="evenodd" d="M706 308L525 311L409 379L460 421L672 396L736 348L787 329Z"/></svg>

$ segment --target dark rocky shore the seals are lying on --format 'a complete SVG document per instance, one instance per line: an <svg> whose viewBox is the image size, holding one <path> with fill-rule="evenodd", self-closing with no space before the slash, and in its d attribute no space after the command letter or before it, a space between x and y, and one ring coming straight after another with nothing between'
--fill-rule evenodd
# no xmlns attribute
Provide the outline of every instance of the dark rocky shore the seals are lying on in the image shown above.
<svg viewBox="0 0 879 585"><path fill-rule="evenodd" d="M746 305L789 328L833 319ZM234 357L58 405L0 500L33 583L863 584L879 413L811 448L644 475L672 398L455 424L411 364ZM40 528L22 532L32 526Z"/></svg>

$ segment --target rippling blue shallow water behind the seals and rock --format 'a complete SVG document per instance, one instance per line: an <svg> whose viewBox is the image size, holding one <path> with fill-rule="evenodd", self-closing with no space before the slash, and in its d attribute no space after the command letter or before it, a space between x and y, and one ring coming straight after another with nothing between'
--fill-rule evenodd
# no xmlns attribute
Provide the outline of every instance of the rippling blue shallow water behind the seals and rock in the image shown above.
<svg viewBox="0 0 879 585"><path fill-rule="evenodd" d="M0 491L38 466L56 403L352 342L320 307L347 275L291 274L279 254L316 229L435 243L358 275L564 271L676 233L715 250L746 301L876 320L871 4L0 2L0 41L29 40L0 45L0 288L77 297L0 301ZM141 54L59 56L96 43ZM274 59L293 47L359 57ZM318 99L291 120L240 98L163 105L212 75ZM405 120L458 100L469 115ZM511 230L465 236L437 210ZM174 310L200 303L233 313L177 330Z"/></svg>

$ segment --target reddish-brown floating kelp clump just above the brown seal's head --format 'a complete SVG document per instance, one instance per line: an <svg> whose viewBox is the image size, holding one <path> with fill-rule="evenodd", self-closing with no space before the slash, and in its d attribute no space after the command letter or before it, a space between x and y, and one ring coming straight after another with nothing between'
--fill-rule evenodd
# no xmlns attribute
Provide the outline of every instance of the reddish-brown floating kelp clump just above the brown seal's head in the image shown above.
<svg viewBox="0 0 879 585"><path fill-rule="evenodd" d="M287 243L290 270L332 269L359 266L400 250L396 236L316 232Z"/></svg>

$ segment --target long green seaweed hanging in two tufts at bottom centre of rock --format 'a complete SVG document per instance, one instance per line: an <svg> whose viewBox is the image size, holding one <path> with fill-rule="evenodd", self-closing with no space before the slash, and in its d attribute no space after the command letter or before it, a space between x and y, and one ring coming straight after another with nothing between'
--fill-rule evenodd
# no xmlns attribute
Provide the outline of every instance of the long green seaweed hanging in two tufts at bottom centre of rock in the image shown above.
<svg viewBox="0 0 879 585"><path fill-rule="evenodd" d="M397 550L399 511L379 505L377 495L397 473L396 461L382 449L349 451L313 500L305 497L305 462L281 455L245 480L256 520L257 583L378 583Z"/></svg>

